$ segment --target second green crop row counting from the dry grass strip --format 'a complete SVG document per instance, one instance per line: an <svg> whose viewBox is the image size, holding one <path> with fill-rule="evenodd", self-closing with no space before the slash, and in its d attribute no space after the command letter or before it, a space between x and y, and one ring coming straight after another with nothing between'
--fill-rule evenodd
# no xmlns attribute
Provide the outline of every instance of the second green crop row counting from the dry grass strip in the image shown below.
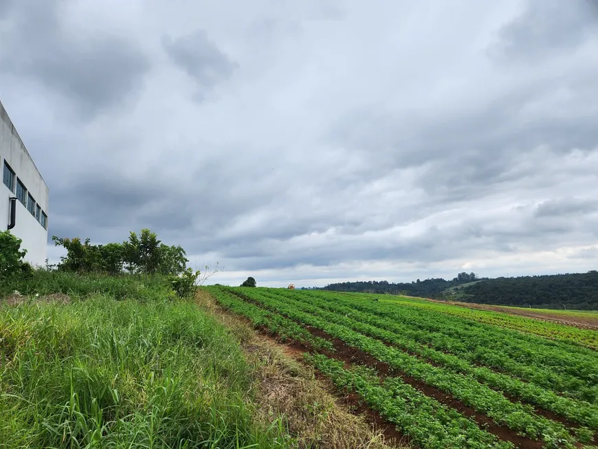
<svg viewBox="0 0 598 449"><path fill-rule="evenodd" d="M432 366L432 364L417 357L399 349L388 347L383 342L364 336L348 327L299 311L296 307L289 306L283 301L269 298L261 289L243 289L242 291L243 294L249 295L252 300L256 300L270 310L276 310L291 320L322 329L330 336L339 338L349 346L373 355L381 362L388 364L392 369L406 373L406 375L421 380L428 385L435 386L445 393L450 393L466 406L470 406L478 413L484 413L491 417L498 425L507 426L511 430L520 432L531 439L543 439L546 442L557 441L564 447L573 448L576 439L562 424L535 415L531 407L509 401L501 393L480 384L469 375L462 375L439 366ZM582 437L586 441L591 439L591 432L582 432Z"/></svg>

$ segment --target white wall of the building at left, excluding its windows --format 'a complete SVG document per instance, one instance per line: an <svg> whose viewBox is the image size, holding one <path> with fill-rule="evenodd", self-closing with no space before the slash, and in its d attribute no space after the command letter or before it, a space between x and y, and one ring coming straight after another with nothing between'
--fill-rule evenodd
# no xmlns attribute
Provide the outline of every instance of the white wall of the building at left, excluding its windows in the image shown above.
<svg viewBox="0 0 598 449"><path fill-rule="evenodd" d="M16 177L21 180L27 188L27 192L35 199L36 204L39 204L43 212L49 216L48 188L0 102L0 176L2 176L0 181L3 180L4 161L8 162ZM14 196L14 192L11 192L1 182L0 230L8 228L10 221L9 198ZM47 257L47 230L18 199L15 206L16 226L10 232L23 240L21 248L27 250L25 259L32 265L43 266Z"/></svg>

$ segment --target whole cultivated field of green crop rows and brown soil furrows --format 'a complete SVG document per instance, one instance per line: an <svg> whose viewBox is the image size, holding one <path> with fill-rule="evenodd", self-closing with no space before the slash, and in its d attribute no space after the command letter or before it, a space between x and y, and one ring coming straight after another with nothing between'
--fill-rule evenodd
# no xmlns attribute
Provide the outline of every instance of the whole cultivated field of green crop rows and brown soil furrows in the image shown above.
<svg viewBox="0 0 598 449"><path fill-rule="evenodd" d="M417 298L205 287L420 448L591 448L597 332ZM364 406L362 405L362 407Z"/></svg>

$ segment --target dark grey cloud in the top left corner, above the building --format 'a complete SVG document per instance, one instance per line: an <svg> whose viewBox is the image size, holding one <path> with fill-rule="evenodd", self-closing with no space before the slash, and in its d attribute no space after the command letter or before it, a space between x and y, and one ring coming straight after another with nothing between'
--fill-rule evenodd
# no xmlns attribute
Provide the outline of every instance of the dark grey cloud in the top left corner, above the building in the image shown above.
<svg viewBox="0 0 598 449"><path fill-rule="evenodd" d="M5 7L10 16L5 12L4 20L12 26L0 31L0 65L69 98L82 118L91 119L137 91L150 63L130 40L70 31L61 20L63 6L58 0L26 0Z"/></svg>

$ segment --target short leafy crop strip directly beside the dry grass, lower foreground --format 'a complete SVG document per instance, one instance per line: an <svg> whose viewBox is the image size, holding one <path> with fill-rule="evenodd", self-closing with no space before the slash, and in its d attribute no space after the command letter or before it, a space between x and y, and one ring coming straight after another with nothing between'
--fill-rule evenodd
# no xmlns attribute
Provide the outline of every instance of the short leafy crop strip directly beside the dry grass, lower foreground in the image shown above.
<svg viewBox="0 0 598 449"><path fill-rule="evenodd" d="M342 362L325 355L306 355L305 360L332 382L355 391L372 408L395 424L421 448L510 449L491 433L453 408L443 406L412 386L393 377L380 384L379 377L364 369L344 369Z"/></svg>

